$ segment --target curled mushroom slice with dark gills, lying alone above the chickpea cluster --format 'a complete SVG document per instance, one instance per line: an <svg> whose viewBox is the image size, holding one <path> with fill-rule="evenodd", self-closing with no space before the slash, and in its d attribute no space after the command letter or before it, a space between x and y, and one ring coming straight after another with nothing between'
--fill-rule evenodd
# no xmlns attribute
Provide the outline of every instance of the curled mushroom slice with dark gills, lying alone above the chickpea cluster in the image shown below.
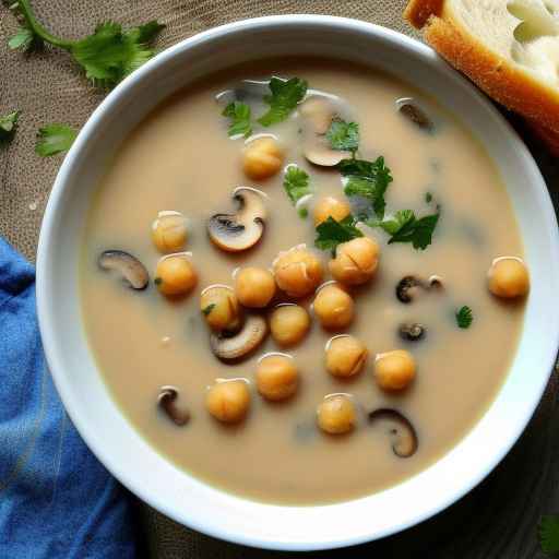
<svg viewBox="0 0 559 559"><path fill-rule="evenodd" d="M222 250L240 252L253 247L264 233L266 210L259 190L239 187L233 192L235 214L215 214L207 222L210 238Z"/></svg>

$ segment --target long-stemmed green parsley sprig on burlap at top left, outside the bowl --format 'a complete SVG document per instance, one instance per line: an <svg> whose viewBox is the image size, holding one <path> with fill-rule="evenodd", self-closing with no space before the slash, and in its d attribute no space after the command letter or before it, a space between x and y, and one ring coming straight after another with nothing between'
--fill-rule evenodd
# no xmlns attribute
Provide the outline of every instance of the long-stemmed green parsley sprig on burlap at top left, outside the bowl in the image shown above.
<svg viewBox="0 0 559 559"><path fill-rule="evenodd" d="M67 50L85 70L85 75L100 87L112 87L141 67L155 51L147 47L165 26L151 21L123 31L115 22L105 22L95 33L80 40L51 35L35 19L29 0L16 0L14 10L23 17L22 27L10 39L11 48L29 49L41 41Z"/></svg>

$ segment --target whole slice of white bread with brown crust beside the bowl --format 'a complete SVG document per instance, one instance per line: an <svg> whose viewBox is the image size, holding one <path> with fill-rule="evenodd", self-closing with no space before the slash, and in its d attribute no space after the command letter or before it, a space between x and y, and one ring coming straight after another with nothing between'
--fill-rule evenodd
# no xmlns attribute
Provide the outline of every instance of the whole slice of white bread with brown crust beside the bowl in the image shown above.
<svg viewBox="0 0 559 559"><path fill-rule="evenodd" d="M559 144L559 0L411 0L404 17L489 96Z"/></svg>

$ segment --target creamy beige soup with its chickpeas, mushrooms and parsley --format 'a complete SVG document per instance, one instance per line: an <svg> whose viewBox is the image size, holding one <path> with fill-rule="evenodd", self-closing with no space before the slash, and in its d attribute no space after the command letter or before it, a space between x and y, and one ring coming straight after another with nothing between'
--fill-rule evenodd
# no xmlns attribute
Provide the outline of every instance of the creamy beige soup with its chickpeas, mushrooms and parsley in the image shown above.
<svg viewBox="0 0 559 559"><path fill-rule="evenodd" d="M264 122L283 120L264 127L271 107ZM419 473L478 421L515 353L522 255L495 165L432 99L274 60L180 92L123 142L87 219L83 320L115 401L168 460L252 499L341 501Z"/></svg>

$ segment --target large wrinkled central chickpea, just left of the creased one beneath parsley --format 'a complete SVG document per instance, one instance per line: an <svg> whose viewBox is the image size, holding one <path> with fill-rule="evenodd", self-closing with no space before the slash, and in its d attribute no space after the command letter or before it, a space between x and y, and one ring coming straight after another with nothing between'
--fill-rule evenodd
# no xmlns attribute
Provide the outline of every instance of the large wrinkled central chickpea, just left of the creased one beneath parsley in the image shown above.
<svg viewBox="0 0 559 559"><path fill-rule="evenodd" d="M274 261L277 286L292 297L311 294L322 282L322 263L306 248L281 252Z"/></svg>

